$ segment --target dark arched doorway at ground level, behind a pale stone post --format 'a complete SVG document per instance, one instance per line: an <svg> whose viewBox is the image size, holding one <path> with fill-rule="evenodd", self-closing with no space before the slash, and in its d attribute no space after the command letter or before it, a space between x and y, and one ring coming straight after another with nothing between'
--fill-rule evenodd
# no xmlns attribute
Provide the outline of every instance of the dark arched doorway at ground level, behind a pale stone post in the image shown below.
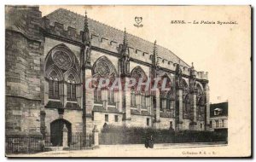
<svg viewBox="0 0 256 162"><path fill-rule="evenodd" d="M67 146L70 146L71 138L72 138L72 129L71 123L65 119L56 119L55 121L50 123L50 142L53 147L61 147L62 146L62 138L63 138L63 127L64 124L67 127Z"/></svg>

